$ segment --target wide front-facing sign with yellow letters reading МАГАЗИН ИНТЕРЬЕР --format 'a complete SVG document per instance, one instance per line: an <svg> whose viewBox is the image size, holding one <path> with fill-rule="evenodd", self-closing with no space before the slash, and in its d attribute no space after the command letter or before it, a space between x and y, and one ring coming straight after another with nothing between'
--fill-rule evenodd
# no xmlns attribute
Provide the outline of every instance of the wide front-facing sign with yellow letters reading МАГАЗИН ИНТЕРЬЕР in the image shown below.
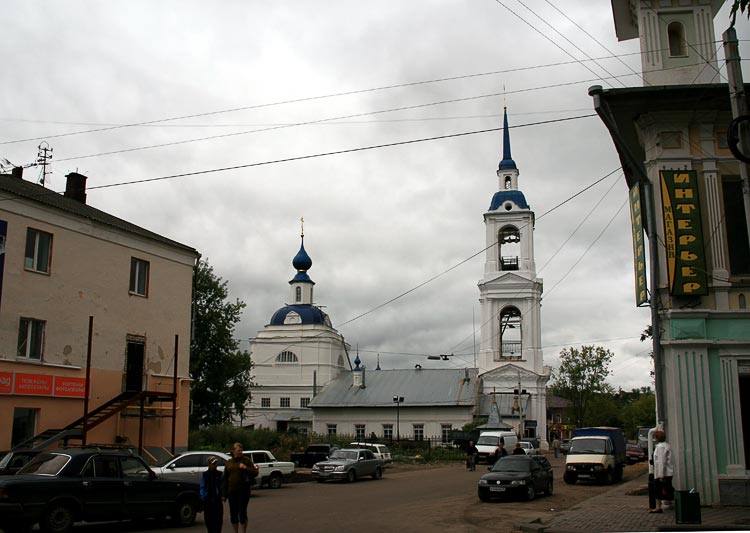
<svg viewBox="0 0 750 533"><path fill-rule="evenodd" d="M708 294L698 174L695 170L662 170L659 177L669 293Z"/></svg>

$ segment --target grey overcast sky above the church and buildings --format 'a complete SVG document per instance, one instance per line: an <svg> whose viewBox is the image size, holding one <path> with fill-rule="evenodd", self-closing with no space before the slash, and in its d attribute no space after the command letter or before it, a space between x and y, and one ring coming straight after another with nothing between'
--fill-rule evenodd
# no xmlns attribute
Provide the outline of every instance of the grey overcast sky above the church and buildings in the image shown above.
<svg viewBox="0 0 750 533"><path fill-rule="evenodd" d="M596 344L613 386L651 384L627 188L587 94L642 85L610 2L6 0L3 18L0 159L46 140L49 188L78 171L90 205L198 250L247 303L243 348L290 298L304 217L315 300L368 367L471 366L505 102L545 364ZM728 6L715 22L722 64Z"/></svg>

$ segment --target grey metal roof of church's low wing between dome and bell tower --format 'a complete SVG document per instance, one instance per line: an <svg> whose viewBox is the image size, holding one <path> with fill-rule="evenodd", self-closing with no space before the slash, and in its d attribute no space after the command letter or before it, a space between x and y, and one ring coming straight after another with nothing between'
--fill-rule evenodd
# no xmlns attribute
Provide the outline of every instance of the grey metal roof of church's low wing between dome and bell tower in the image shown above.
<svg viewBox="0 0 750 533"><path fill-rule="evenodd" d="M365 387L355 387L350 372L330 381L310 402L310 407L393 407L393 397L402 396L401 407L472 407L477 384L476 369L371 370Z"/></svg>

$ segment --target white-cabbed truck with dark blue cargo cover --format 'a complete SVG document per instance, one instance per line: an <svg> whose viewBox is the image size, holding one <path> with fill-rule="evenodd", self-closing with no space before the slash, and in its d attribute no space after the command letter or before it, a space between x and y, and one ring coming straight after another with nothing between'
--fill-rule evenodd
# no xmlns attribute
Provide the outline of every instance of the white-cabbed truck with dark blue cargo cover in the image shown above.
<svg viewBox="0 0 750 533"><path fill-rule="evenodd" d="M565 459L565 483L579 479L616 483L625 467L625 434L620 428L591 427L573 431Z"/></svg>

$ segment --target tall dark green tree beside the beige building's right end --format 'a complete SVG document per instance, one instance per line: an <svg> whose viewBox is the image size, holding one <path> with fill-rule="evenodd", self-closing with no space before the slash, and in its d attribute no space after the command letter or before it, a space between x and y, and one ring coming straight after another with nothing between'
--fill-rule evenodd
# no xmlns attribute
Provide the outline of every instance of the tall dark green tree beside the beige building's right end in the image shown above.
<svg viewBox="0 0 750 533"><path fill-rule="evenodd" d="M245 303L227 301L227 282L214 274L206 260L198 261L193 283L190 426L198 429L229 423L242 414L250 399L253 363L234 338Z"/></svg>

